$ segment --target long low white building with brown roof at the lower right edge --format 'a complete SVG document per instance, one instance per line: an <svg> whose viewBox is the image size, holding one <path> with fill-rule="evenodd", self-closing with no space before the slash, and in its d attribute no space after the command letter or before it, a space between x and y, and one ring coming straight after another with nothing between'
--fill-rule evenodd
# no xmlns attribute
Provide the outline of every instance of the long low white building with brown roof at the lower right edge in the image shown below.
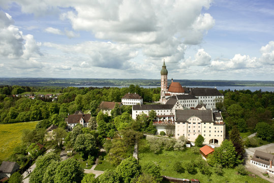
<svg viewBox="0 0 274 183"><path fill-rule="evenodd" d="M256 165L260 168L266 169L267 172L274 173L274 155L264 153L260 150L255 150L253 158L250 160L250 163Z"/></svg>

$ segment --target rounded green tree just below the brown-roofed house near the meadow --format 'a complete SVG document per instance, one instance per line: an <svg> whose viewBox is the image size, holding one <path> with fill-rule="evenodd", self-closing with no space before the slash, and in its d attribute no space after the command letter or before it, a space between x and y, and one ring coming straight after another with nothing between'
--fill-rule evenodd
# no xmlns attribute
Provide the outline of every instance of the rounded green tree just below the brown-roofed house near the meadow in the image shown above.
<svg viewBox="0 0 274 183"><path fill-rule="evenodd" d="M92 134L80 134L77 136L73 147L76 151L80 151L82 156L89 152L95 153L96 140Z"/></svg>

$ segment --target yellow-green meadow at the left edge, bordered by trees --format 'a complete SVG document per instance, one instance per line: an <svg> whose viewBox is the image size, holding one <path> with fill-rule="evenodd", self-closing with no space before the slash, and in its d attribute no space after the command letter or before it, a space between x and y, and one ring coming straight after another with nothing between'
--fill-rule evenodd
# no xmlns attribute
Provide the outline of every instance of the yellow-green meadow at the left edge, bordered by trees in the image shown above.
<svg viewBox="0 0 274 183"><path fill-rule="evenodd" d="M0 124L0 160L6 160L13 149L21 143L23 129L34 129L38 121Z"/></svg>

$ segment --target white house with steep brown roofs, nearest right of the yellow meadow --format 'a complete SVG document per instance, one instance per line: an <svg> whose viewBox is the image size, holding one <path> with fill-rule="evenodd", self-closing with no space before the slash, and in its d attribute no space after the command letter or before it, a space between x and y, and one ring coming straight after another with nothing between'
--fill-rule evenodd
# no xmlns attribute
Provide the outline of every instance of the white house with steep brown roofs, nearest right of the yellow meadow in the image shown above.
<svg viewBox="0 0 274 183"><path fill-rule="evenodd" d="M77 124L81 124L83 127L87 127L90 114L84 114L82 111L76 111L74 114L69 114L65 121L68 125L68 130L72 130Z"/></svg>

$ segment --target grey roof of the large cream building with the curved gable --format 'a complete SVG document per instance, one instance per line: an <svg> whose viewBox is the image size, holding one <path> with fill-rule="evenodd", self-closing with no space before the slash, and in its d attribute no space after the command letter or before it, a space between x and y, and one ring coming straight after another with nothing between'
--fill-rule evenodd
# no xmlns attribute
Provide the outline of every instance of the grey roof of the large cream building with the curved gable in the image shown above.
<svg viewBox="0 0 274 183"><path fill-rule="evenodd" d="M214 122L211 110L176 110L175 116L178 122L186 122L192 116L199 117L203 122Z"/></svg>

